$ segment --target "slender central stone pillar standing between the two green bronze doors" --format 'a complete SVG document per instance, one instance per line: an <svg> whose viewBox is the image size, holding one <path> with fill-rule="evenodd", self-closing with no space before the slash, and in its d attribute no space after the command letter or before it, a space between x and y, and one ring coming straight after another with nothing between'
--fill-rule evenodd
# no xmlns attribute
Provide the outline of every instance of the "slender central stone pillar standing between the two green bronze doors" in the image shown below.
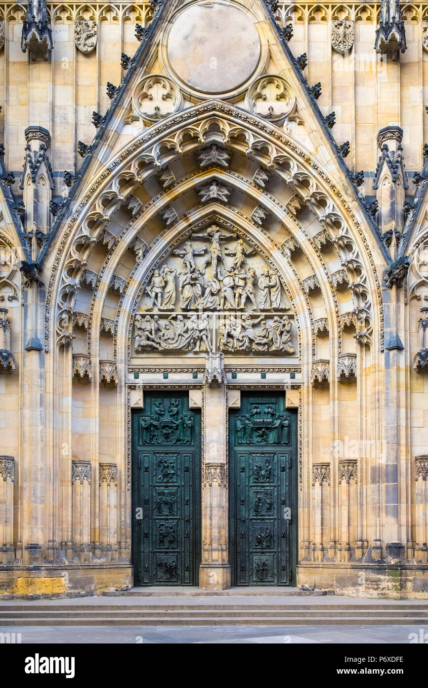
<svg viewBox="0 0 428 688"><path fill-rule="evenodd" d="M203 376L202 562L200 588L230 588L229 422L223 354L207 354Z"/></svg>

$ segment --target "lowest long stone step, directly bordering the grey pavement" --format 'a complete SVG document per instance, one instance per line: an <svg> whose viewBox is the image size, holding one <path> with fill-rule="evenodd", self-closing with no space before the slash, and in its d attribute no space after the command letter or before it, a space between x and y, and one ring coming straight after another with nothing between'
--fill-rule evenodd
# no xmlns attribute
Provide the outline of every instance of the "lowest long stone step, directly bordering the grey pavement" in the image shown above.
<svg viewBox="0 0 428 688"><path fill-rule="evenodd" d="M418 625L420 618L414 616L391 617L373 616L368 619L365 616L318 616L311 618L311 625ZM212 616L210 618L201 616L157 616L148 619L133 619L128 617L117 618L116 616L94 618L93 616L84 619L64 618L64 619L5 619L1 622L2 627L11 626L233 626L233 625L308 625L304 623L302 617L288 616Z"/></svg>

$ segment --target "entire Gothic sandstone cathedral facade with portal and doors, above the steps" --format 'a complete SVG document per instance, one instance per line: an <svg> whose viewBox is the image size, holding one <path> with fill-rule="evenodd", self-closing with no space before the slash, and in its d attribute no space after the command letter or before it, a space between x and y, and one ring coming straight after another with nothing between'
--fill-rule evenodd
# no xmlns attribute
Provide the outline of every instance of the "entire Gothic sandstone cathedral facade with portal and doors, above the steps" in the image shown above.
<svg viewBox="0 0 428 688"><path fill-rule="evenodd" d="M0 74L0 596L426 597L428 3L0 0Z"/></svg>

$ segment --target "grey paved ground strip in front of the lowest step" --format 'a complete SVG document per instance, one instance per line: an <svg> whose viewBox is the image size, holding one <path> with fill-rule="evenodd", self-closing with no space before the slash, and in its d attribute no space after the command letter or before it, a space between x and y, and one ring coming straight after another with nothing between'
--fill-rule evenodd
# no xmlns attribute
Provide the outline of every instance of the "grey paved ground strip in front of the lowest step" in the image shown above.
<svg viewBox="0 0 428 688"><path fill-rule="evenodd" d="M409 634L418 638L428 626L14 626L0 632L21 633L21 643L115 643L201 644L201 643L335 643L373 645L409 644Z"/></svg>

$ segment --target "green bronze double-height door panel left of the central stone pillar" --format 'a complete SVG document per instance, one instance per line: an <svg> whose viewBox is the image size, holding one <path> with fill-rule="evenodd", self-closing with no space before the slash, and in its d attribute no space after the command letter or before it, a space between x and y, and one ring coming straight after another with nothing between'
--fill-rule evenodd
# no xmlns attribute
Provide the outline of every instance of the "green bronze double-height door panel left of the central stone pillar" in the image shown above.
<svg viewBox="0 0 428 688"><path fill-rule="evenodd" d="M144 394L133 413L134 585L197 585L201 416L187 392Z"/></svg>

